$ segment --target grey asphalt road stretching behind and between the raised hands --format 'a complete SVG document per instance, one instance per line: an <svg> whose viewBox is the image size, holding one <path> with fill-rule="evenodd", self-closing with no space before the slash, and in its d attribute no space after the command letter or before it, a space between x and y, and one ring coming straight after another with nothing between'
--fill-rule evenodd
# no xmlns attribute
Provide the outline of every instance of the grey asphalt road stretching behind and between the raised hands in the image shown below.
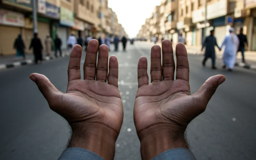
<svg viewBox="0 0 256 160"><path fill-rule="evenodd" d="M127 52L110 52L119 61L119 89L124 105L124 122L116 142L116 160L140 159L140 143L133 123L137 91L137 62L148 58L151 44L135 42ZM82 61L84 60L83 54ZM194 93L216 74L226 82L216 91L206 111L187 130L188 142L198 160L254 160L256 157L256 72L235 68L234 72L202 68L202 56L189 55L190 87ZM36 85L33 72L44 74L62 92L66 91L68 58L0 71L0 159L55 160L66 148L67 122L51 111ZM81 62L82 62L81 61ZM83 63L81 63L83 64ZM221 68L221 60L217 60Z"/></svg>

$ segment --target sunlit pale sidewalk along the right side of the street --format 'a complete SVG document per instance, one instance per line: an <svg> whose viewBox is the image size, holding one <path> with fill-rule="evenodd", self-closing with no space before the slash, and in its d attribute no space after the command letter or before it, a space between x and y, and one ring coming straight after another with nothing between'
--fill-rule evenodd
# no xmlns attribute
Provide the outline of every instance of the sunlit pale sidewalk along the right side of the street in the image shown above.
<svg viewBox="0 0 256 160"><path fill-rule="evenodd" d="M151 43L154 44L153 42L151 42ZM158 42L157 44L161 46L160 42ZM174 51L175 51L175 46L176 46L176 44L173 44L173 50ZM204 51L203 52L201 51L201 46L188 46L188 45L185 45L185 46L187 48L188 54L196 54L196 55L203 55L204 54ZM223 50L219 51L218 49L216 49L216 55L217 55L218 59L222 59ZM244 56L245 56L246 63L242 63L241 53L239 52L237 54L237 56L236 56L236 61L237 61L236 66L256 70L256 51L245 51Z"/></svg>

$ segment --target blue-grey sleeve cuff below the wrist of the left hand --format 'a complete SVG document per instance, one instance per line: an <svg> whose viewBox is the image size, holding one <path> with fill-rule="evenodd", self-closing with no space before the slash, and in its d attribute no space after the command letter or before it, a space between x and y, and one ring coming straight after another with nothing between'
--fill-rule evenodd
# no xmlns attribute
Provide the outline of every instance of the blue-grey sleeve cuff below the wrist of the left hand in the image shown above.
<svg viewBox="0 0 256 160"><path fill-rule="evenodd" d="M103 160L97 154L83 148L67 148L58 160Z"/></svg>

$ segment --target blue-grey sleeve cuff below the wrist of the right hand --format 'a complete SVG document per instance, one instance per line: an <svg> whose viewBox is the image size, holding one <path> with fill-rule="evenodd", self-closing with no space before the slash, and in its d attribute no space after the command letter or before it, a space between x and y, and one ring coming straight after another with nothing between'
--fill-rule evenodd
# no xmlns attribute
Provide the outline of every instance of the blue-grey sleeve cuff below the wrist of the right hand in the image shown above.
<svg viewBox="0 0 256 160"><path fill-rule="evenodd" d="M152 160L196 160L196 158L189 149L174 148L161 153Z"/></svg>

